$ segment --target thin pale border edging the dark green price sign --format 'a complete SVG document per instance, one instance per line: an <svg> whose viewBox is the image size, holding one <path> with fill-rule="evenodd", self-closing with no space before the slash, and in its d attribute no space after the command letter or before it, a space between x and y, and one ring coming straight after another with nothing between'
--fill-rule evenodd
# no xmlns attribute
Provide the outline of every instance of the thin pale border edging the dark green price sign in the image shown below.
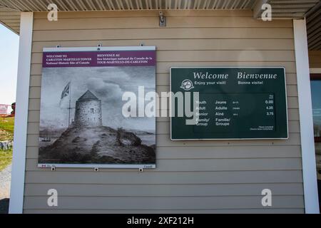
<svg viewBox="0 0 321 228"><path fill-rule="evenodd" d="M259 67L259 66L173 66L170 68L170 92L172 91L172 69L179 69L179 68L283 68L284 70L284 83L285 83L285 108L286 108L286 115L287 115L287 138L195 138L195 139L173 139L173 131L172 131L172 117L170 117L170 140L172 141L206 141L206 140L288 140L289 135L289 118L288 118L288 110L287 110L287 77L285 72L285 67L283 66L265 66L265 67ZM170 96L170 108L172 107L172 98ZM170 111L171 114L171 111Z"/></svg>

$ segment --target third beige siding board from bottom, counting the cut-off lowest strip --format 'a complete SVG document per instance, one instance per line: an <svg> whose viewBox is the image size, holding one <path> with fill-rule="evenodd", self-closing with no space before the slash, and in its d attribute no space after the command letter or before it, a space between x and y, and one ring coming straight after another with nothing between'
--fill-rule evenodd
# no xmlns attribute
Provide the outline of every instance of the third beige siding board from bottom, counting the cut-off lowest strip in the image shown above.
<svg viewBox="0 0 321 228"><path fill-rule="evenodd" d="M273 195L303 195L301 184L251 184L251 185L35 185L25 186L26 196L47 196L50 189L59 196L72 197L188 197L188 196L260 196L270 189ZM128 192L131 189L131 192Z"/></svg>

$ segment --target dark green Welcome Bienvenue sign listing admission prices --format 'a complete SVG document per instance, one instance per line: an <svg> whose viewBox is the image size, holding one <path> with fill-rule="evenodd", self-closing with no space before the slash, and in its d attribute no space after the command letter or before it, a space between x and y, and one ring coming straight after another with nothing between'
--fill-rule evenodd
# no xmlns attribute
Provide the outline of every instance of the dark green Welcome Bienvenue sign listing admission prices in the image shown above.
<svg viewBox="0 0 321 228"><path fill-rule="evenodd" d="M171 68L170 90L172 140L288 138L285 68Z"/></svg>

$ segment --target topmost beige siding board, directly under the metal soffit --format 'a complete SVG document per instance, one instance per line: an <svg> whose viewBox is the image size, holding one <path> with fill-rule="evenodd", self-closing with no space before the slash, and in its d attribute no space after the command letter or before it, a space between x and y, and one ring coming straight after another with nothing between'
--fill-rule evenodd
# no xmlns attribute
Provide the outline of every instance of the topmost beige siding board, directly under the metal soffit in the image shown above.
<svg viewBox="0 0 321 228"><path fill-rule="evenodd" d="M59 12L59 18L61 19L83 19L83 18L123 18L123 17L154 17L159 16L158 10L148 10L148 11L94 11L94 12ZM166 10L166 17L250 17L252 18L253 12L251 10L217 10L217 11L193 11L193 10ZM35 13L34 19L46 19L47 13Z"/></svg>

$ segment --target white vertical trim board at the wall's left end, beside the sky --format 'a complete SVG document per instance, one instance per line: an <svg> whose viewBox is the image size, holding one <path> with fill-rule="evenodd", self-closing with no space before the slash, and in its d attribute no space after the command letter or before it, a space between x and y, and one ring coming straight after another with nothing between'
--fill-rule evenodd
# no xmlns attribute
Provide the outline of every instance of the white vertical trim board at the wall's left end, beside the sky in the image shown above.
<svg viewBox="0 0 321 228"><path fill-rule="evenodd" d="M10 214L21 214L24 206L24 177L28 127L29 78L34 13L21 13L16 118L14 124L14 158L11 172Z"/></svg>

